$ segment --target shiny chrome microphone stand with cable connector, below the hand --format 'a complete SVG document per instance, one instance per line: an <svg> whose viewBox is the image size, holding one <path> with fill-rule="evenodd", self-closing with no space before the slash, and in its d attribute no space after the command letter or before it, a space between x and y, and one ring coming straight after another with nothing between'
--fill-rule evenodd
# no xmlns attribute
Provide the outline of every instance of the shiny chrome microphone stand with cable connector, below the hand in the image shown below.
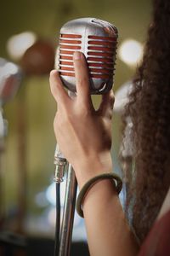
<svg viewBox="0 0 170 256"><path fill-rule="evenodd" d="M74 93L68 91L69 96L75 96ZM66 174L65 186L65 204L62 218L62 224L59 234L58 255L54 256L69 256L71 252L71 237L74 222L75 205L77 198L77 178L75 172L65 159L64 155L59 151L58 145L54 154L55 174L54 182L61 183L64 181Z"/></svg>

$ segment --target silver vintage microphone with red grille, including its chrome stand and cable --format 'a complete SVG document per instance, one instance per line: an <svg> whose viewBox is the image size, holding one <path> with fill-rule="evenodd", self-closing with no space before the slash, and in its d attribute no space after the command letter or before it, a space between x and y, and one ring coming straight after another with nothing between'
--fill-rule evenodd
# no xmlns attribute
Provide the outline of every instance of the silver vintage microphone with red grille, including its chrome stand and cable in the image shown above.
<svg viewBox="0 0 170 256"><path fill-rule="evenodd" d="M70 96L75 96L77 92L73 66L75 51L81 51L87 59L91 94L104 94L111 90L114 82L117 37L116 26L95 18L71 20L61 27L56 66ZM54 181L59 184L65 175L65 169L67 169L65 166L68 165L58 147L54 154L54 165L56 166ZM59 189L59 186L57 188ZM58 234L56 238L60 239L56 243L59 244L59 248L55 250L56 256L70 254L76 194L77 180L69 164L60 236L59 227L56 231Z"/></svg>

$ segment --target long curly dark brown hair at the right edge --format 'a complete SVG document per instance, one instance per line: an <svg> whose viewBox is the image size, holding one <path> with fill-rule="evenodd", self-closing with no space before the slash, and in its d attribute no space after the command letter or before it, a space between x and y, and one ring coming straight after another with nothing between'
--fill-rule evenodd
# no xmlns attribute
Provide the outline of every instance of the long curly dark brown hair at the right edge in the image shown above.
<svg viewBox="0 0 170 256"><path fill-rule="evenodd" d="M123 115L130 117L135 163L127 214L143 241L170 186L170 1L153 1L144 58ZM124 134L125 136L125 134Z"/></svg>

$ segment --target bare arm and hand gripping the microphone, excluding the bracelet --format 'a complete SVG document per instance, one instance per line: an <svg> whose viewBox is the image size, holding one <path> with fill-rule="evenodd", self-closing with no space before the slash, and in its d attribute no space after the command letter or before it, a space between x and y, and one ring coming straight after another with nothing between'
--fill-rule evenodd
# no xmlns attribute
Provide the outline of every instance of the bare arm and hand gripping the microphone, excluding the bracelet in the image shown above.
<svg viewBox="0 0 170 256"><path fill-rule="evenodd" d="M57 72L51 73L50 86L58 103L54 132L61 152L76 172L81 189L89 178L112 170L114 96L112 91L107 93L99 109L95 110L89 93L88 68L82 54L80 58L74 58L74 67L77 80L77 96L74 99L65 92ZM110 181L100 181L89 190L83 212L91 256L137 255L137 242Z"/></svg>

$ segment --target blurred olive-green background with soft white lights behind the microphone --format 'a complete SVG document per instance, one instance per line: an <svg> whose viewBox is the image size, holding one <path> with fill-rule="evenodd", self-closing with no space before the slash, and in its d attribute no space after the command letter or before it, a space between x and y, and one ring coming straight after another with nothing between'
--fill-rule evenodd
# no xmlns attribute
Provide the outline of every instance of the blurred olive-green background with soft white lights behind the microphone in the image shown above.
<svg viewBox="0 0 170 256"><path fill-rule="evenodd" d="M122 86L132 79L143 54L151 1L3 1L0 12L0 103L4 124L0 131L0 228L3 235L8 230L24 237L43 237L53 246L56 104L49 91L48 73L54 68L59 28L81 17L96 17L116 25L119 40L114 91L121 99ZM98 105L99 99L94 96L94 104ZM116 172L121 170L117 160L121 112L118 101L112 148ZM63 196L64 189L63 185ZM3 235L2 240L8 236ZM83 220L77 214L73 241L86 241Z"/></svg>

